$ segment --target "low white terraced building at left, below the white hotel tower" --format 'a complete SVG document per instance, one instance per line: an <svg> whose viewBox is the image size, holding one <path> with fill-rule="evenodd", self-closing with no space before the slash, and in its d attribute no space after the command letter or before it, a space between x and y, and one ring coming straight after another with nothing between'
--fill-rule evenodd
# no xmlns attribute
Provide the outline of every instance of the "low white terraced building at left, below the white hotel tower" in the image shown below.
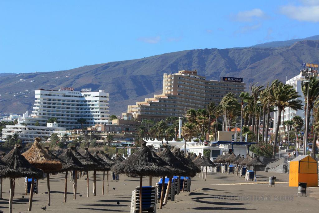
<svg viewBox="0 0 319 213"><path fill-rule="evenodd" d="M43 138L50 137L52 133L66 133L65 127L58 127L57 123L48 123L47 126L33 126L33 125L7 125L2 129L2 141L5 141L8 135L18 133L22 143L32 143L35 137Z"/></svg>

